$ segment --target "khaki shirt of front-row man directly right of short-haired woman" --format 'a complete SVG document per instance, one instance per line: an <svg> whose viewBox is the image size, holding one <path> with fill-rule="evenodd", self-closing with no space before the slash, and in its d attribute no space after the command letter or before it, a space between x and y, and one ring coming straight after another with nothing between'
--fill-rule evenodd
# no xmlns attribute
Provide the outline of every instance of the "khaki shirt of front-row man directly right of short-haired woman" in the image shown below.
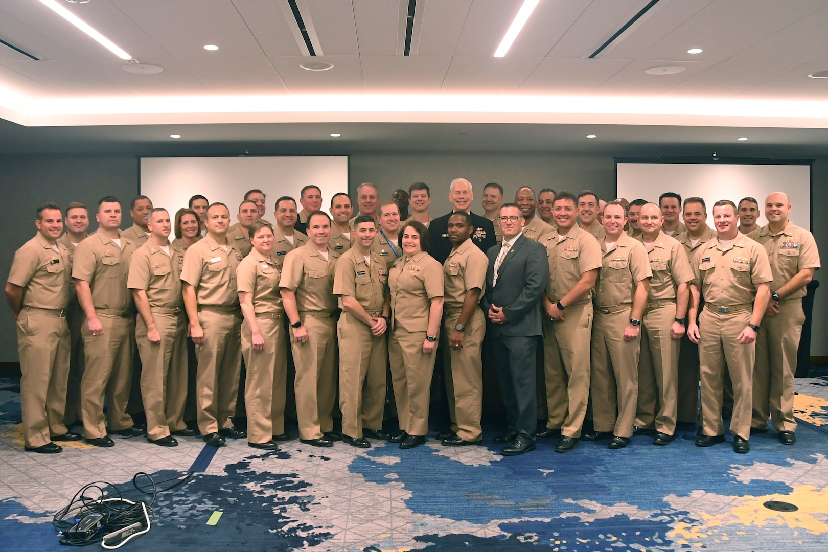
<svg viewBox="0 0 828 552"><path fill-rule="evenodd" d="M286 255L279 287L296 294L296 308L300 313L334 312L334 272L338 260L339 253L330 247L325 260L310 242Z"/></svg>

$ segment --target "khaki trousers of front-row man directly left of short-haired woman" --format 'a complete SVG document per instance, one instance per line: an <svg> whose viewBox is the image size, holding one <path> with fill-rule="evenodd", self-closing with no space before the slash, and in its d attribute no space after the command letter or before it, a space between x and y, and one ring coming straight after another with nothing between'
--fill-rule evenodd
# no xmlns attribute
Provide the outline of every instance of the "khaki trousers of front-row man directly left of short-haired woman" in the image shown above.
<svg viewBox="0 0 828 552"><path fill-rule="evenodd" d="M195 377L195 405L201 434L233 427L238 372L242 366L242 317L211 310L199 311L205 341L195 345L199 366Z"/></svg>

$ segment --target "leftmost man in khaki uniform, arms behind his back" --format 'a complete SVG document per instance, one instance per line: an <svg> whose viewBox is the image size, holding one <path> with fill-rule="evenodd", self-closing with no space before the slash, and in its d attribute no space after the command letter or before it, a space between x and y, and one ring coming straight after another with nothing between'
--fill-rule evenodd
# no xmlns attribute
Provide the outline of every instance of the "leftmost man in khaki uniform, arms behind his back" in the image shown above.
<svg viewBox="0 0 828 552"><path fill-rule="evenodd" d="M6 281L6 300L17 320L23 447L54 454L52 441L75 441L63 423L69 377L69 251L57 242L63 215L55 204L37 209L37 233L17 250Z"/></svg>

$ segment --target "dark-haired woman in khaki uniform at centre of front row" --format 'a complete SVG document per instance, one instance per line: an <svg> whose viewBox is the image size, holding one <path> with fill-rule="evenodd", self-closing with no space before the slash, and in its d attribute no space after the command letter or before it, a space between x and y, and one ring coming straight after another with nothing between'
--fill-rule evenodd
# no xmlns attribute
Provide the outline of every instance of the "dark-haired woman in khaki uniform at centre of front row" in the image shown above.
<svg viewBox="0 0 828 552"><path fill-rule="evenodd" d="M391 289L391 338L388 354L399 434L392 443L412 449L426 442L431 372L443 315L443 267L428 254L429 233L422 223L402 227L402 257L388 273Z"/></svg>

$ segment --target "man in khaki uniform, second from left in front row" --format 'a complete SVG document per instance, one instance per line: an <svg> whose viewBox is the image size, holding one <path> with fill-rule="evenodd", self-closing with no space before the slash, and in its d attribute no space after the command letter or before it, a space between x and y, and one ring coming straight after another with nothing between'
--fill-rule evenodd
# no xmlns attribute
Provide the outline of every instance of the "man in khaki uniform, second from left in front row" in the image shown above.
<svg viewBox="0 0 828 552"><path fill-rule="evenodd" d="M100 199L96 218L98 231L79 243L72 261L75 290L86 314L80 404L86 442L111 447L114 443L107 428L109 433L128 437L144 433L127 413L135 343L127 271L137 244L118 231L121 204L117 198L108 195ZM104 394L108 425L103 423Z"/></svg>

